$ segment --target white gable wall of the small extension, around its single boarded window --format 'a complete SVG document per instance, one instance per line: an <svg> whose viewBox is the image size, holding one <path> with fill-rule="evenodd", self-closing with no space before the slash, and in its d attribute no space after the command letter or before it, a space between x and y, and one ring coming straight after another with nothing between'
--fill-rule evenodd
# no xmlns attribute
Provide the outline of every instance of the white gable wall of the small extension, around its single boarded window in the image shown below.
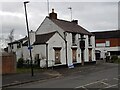
<svg viewBox="0 0 120 90"><path fill-rule="evenodd" d="M56 33L50 40L47 42L48 43L48 67L50 66L57 66L60 64L55 65L55 50L53 47L61 47L60 50L60 59L61 59L61 64L64 65L66 64L66 53L65 53L65 41L60 37L58 33Z"/></svg>

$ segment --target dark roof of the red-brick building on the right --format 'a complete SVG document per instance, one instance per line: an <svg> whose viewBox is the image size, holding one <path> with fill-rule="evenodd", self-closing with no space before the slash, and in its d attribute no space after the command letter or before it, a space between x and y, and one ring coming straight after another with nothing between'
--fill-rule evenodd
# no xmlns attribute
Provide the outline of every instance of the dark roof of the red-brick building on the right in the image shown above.
<svg viewBox="0 0 120 90"><path fill-rule="evenodd" d="M120 30L92 32L96 39L120 38Z"/></svg>

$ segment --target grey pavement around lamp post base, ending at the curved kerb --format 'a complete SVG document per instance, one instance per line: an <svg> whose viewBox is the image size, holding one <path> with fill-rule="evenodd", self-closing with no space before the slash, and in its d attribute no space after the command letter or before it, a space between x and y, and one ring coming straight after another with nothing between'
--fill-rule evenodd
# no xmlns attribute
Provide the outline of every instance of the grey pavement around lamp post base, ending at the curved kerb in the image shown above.
<svg viewBox="0 0 120 90"><path fill-rule="evenodd" d="M2 87L4 88L9 86L36 82L40 80L48 80L59 76L60 74L55 70L45 70L44 72L35 72L34 76L31 76L31 73L7 74L2 76Z"/></svg>

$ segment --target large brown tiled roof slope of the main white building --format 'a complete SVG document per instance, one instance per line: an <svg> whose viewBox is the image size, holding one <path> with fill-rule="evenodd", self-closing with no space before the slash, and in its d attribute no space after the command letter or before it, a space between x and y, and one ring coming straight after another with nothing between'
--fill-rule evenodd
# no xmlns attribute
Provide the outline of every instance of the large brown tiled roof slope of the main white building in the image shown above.
<svg viewBox="0 0 120 90"><path fill-rule="evenodd" d="M83 27L81 27L78 24L75 24L73 22L60 20L60 19L50 19L50 20L53 21L55 24L57 24L65 32L93 35L91 32L88 32L86 29L84 29Z"/></svg>

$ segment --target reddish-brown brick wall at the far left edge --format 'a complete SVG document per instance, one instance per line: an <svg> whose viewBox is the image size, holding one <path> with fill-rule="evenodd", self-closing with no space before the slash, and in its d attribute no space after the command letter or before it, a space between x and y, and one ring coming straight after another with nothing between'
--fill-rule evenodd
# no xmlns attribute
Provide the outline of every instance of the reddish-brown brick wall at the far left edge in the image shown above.
<svg viewBox="0 0 120 90"><path fill-rule="evenodd" d="M2 74L10 74L16 72L16 55L11 53L2 54Z"/></svg>

